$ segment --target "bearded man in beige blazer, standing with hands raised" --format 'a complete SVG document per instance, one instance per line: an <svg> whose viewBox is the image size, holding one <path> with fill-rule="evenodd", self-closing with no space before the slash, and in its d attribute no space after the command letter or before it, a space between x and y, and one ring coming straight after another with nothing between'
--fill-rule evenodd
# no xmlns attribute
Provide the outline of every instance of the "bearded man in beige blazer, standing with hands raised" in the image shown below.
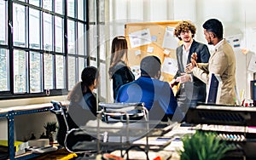
<svg viewBox="0 0 256 160"><path fill-rule="evenodd" d="M215 49L208 63L196 63L197 56L193 54L189 71L202 82L209 82L209 75L218 74L223 82L220 91L219 104L235 105L236 57L229 43L223 37L223 26L219 20L210 19L203 24L205 38Z"/></svg>

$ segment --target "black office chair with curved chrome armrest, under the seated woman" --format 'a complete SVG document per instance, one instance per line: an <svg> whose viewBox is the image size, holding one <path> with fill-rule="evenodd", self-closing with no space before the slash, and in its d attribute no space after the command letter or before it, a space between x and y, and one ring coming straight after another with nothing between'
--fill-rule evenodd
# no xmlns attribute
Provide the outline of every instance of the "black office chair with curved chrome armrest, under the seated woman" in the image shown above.
<svg viewBox="0 0 256 160"><path fill-rule="evenodd" d="M95 138L79 129L68 114L67 106L62 106L61 102L54 100L51 103L53 107L50 111L55 114L59 123L56 137L58 143L70 152L86 156L96 153L96 143L90 143Z"/></svg>

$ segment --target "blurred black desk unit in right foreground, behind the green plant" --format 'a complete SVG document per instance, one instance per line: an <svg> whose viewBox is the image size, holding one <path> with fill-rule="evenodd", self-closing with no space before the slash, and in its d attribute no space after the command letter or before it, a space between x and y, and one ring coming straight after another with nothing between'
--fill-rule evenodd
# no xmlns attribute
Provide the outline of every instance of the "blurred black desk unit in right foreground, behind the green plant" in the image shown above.
<svg viewBox="0 0 256 160"><path fill-rule="evenodd" d="M256 107L200 105L189 108L185 121L235 143L246 159L256 158Z"/></svg>

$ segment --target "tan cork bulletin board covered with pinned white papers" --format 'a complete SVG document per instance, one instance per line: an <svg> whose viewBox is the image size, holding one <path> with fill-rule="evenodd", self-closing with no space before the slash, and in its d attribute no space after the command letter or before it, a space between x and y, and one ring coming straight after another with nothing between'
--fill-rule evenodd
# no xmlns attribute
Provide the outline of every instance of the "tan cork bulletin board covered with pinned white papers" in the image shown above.
<svg viewBox="0 0 256 160"><path fill-rule="evenodd" d="M172 81L177 71L176 48L180 44L173 36L179 21L142 22L125 24L128 43L128 65L136 75L140 61L148 55L156 55L162 64L160 79Z"/></svg>

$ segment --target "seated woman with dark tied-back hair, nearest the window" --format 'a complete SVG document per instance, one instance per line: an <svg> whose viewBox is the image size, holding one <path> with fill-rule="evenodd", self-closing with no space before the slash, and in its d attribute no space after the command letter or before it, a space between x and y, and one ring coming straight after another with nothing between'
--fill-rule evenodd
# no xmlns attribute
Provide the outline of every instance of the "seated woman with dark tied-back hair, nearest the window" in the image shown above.
<svg viewBox="0 0 256 160"><path fill-rule="evenodd" d="M81 79L67 96L67 100L70 100L68 114L73 123L69 125L73 126L72 128L96 119L96 96L92 91L98 87L99 71L93 66L85 67Z"/></svg>

